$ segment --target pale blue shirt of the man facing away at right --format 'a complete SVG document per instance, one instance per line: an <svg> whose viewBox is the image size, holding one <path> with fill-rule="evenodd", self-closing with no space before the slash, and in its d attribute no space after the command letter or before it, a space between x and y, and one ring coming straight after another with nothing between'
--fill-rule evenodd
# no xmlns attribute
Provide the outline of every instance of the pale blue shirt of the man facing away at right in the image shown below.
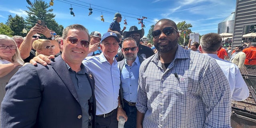
<svg viewBox="0 0 256 128"><path fill-rule="evenodd" d="M244 79L236 64L233 64L227 60L222 60L217 56L217 54L204 53L203 55L214 58L225 74L230 86L231 100L242 101L248 98L249 89L244 82Z"/></svg>

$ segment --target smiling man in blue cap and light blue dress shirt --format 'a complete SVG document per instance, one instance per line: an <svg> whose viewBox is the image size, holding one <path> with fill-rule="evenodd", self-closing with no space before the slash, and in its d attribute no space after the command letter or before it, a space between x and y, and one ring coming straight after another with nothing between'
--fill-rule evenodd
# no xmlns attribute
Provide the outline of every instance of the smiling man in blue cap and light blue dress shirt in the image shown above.
<svg viewBox="0 0 256 128"><path fill-rule="evenodd" d="M114 58L118 42L120 40L115 33L106 32L100 41L102 53L83 61L95 78L96 128L117 128L119 116L127 120L119 100L120 70Z"/></svg>

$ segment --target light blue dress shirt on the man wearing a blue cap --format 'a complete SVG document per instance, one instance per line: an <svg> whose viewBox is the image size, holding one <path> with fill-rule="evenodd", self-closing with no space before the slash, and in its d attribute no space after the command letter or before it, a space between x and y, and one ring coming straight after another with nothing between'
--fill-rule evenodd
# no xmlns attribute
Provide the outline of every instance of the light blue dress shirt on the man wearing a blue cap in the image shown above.
<svg viewBox="0 0 256 128"><path fill-rule="evenodd" d="M96 115L107 114L118 106L120 70L116 59L113 60L110 65L103 52L83 60L84 66L92 72L95 80Z"/></svg>

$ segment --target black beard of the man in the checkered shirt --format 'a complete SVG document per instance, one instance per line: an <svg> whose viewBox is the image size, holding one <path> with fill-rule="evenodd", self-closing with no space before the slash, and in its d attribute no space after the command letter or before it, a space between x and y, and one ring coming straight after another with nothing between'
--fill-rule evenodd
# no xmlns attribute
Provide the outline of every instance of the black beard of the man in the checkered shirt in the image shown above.
<svg viewBox="0 0 256 128"><path fill-rule="evenodd" d="M163 53L170 52L171 50L176 48L177 45L178 45L178 38L176 38L173 41L170 41L166 45L160 45L158 42L154 43L154 46L155 46L156 50L158 50L159 52L163 52Z"/></svg>

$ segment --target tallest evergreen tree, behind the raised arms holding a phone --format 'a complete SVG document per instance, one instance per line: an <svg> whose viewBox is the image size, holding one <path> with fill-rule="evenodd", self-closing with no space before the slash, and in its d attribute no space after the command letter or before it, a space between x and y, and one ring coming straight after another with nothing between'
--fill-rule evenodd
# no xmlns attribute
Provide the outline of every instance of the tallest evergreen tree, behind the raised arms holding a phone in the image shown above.
<svg viewBox="0 0 256 128"><path fill-rule="evenodd" d="M28 17L26 17L28 28L35 26L37 20L44 20L47 28L54 30L58 35L62 35L64 27L54 20L56 15L52 13L53 9L48 9L50 5L43 0L34 0L32 4L33 7L27 6L28 10L25 10L28 13Z"/></svg>

